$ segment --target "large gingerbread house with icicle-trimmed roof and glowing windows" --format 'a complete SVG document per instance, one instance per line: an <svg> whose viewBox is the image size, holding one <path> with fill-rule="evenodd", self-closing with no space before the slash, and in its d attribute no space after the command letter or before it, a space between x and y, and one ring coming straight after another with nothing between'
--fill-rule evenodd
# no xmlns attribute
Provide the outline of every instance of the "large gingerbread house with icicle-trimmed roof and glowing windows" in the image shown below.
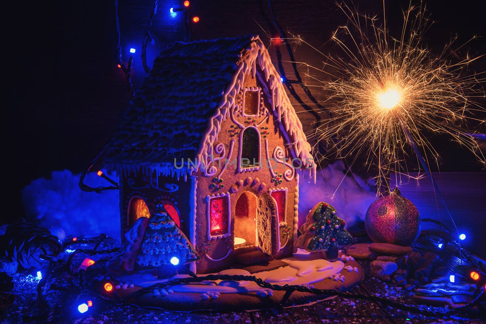
<svg viewBox="0 0 486 324"><path fill-rule="evenodd" d="M104 154L120 176L121 237L163 205L197 251L195 273L293 254L299 169L311 146L255 35L176 42ZM315 170L314 170L315 171Z"/></svg>

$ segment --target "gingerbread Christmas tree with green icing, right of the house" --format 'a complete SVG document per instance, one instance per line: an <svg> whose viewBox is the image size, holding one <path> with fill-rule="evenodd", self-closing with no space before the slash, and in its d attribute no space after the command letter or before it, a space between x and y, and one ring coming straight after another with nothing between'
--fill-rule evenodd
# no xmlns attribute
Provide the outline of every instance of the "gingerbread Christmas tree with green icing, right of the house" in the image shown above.
<svg viewBox="0 0 486 324"><path fill-rule="evenodd" d="M336 209L328 203L318 203L300 226L301 235L296 245L309 252L326 252L328 259L335 259L340 246L350 244L351 235L344 229L346 222L337 217Z"/></svg>

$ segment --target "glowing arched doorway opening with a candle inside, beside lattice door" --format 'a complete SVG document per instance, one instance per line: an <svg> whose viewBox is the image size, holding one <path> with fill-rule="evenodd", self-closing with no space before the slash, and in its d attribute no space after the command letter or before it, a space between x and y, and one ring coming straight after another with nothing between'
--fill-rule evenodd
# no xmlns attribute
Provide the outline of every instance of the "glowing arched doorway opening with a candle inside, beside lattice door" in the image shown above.
<svg viewBox="0 0 486 324"><path fill-rule="evenodd" d="M257 197L245 191L235 206L235 247L255 245L257 239Z"/></svg>

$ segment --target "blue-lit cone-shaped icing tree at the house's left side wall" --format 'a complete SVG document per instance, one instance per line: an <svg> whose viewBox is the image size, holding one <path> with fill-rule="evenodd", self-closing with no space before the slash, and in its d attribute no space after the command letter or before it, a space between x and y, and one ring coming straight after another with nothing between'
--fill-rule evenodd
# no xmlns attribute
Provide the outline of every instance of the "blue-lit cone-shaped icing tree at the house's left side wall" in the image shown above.
<svg viewBox="0 0 486 324"><path fill-rule="evenodd" d="M177 259L173 259L176 257ZM141 267L158 268L198 259L197 252L163 205L156 205L145 230L136 262ZM172 261L171 261L172 260Z"/></svg>

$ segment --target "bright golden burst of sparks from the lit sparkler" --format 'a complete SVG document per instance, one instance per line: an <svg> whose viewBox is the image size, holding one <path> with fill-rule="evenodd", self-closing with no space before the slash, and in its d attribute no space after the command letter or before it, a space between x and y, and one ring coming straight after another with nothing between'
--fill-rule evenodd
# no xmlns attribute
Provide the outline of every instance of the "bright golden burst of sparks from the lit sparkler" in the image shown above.
<svg viewBox="0 0 486 324"><path fill-rule="evenodd" d="M430 142L433 134L464 145L486 165L474 132L467 130L469 124L485 125L485 109L475 101L484 97L485 79L467 74L465 68L481 56L451 63L451 55L457 56L452 50L455 39L438 56L429 51L423 34L430 24L422 6L403 13L399 38L388 34L384 21L377 25L377 17L360 15L346 4L339 7L349 23L331 39L344 55L323 53L325 66L318 70L329 74L330 81L309 75L330 93L332 118L312 135L342 158L355 161L364 154L368 167L378 167L379 191L388 187L390 171L408 173L403 162L415 155L412 148L417 155L424 153L425 158L415 158L427 164L426 171L429 159L438 165L439 154Z"/></svg>

